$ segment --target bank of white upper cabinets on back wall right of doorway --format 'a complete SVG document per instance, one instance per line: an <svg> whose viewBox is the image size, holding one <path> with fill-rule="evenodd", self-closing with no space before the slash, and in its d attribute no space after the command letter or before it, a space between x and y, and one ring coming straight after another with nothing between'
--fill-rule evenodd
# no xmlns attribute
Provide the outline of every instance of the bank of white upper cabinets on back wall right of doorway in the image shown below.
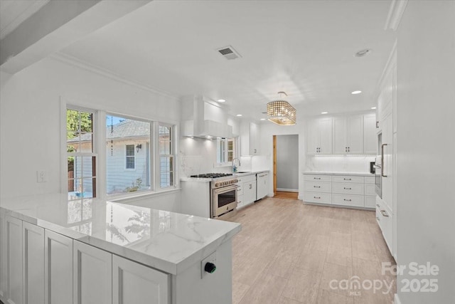
<svg viewBox="0 0 455 304"><path fill-rule="evenodd" d="M308 123L307 154L376 154L375 114L324 117Z"/></svg>

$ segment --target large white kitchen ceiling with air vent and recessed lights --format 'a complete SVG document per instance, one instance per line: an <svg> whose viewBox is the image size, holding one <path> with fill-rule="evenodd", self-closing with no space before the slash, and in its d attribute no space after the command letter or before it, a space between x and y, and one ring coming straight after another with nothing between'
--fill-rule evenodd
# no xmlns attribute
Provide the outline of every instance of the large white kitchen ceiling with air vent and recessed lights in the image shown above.
<svg viewBox="0 0 455 304"><path fill-rule="evenodd" d="M228 100L264 117L288 94L299 112L368 110L395 33L390 1L152 1L62 52L173 95ZM242 58L217 51L233 46ZM363 48L364 58L353 54ZM351 95L353 90L362 90Z"/></svg>

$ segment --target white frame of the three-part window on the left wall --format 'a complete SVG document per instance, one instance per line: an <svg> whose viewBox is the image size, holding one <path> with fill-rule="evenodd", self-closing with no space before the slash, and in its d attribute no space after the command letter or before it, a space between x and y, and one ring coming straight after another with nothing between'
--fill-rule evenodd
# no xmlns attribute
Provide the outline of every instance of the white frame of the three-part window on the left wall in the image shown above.
<svg viewBox="0 0 455 304"><path fill-rule="evenodd" d="M178 138L180 122L173 120L163 120L159 117L139 117L126 112L117 112L107 109L96 103L87 103L81 100L67 99L60 97L60 193L68 195L68 152L67 152L67 119L66 110L76 109L93 113L93 151L96 151L96 199L110 201L128 201L138 196L156 196L168 192L178 191L179 182L179 165L176 152L178 151ZM150 142L149 142L149 170L150 170L150 189L141 192L107 194L107 145L106 145L106 117L114 115L132 120L142 120L149 122L151 125ZM161 188L159 180L159 124L171 127L171 147L173 147L173 185ZM173 135L173 138L172 138ZM136 157L136 155L135 155ZM134 164L137 167L137 164Z"/></svg>

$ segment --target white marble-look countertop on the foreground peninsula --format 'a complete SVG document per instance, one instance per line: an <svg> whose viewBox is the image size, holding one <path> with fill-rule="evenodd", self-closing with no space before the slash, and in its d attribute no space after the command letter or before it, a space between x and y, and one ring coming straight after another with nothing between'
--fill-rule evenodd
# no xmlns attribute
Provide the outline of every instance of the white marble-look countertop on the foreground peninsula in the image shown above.
<svg viewBox="0 0 455 304"><path fill-rule="evenodd" d="M66 194L1 199L0 209L77 241L178 274L235 236L240 224Z"/></svg>

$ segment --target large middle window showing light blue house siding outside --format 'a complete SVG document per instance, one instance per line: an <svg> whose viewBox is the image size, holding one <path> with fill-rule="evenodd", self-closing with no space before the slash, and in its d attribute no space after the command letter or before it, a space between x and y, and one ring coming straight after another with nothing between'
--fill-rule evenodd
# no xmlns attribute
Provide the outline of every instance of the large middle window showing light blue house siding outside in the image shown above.
<svg viewBox="0 0 455 304"><path fill-rule="evenodd" d="M106 115L106 193L151 189L151 122Z"/></svg>

